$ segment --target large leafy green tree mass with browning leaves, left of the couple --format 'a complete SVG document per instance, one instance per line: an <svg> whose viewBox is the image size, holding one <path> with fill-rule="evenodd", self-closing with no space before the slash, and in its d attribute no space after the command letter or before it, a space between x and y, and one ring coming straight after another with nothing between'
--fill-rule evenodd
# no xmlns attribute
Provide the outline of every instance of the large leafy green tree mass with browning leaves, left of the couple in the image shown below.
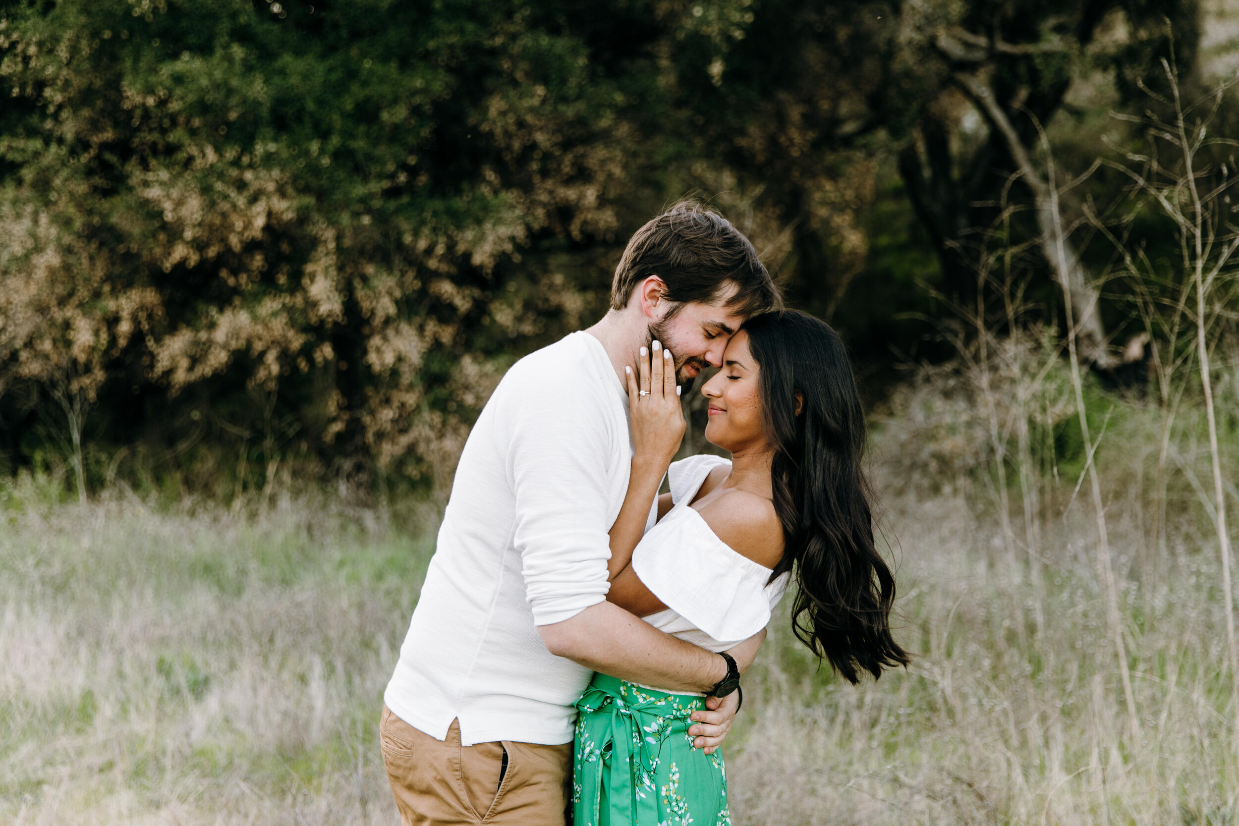
<svg viewBox="0 0 1239 826"><path fill-rule="evenodd" d="M519 5L2 14L19 419L59 386L121 443L206 414L261 462L295 435L416 474L489 359L589 305L518 250L615 228L624 95Z"/></svg>

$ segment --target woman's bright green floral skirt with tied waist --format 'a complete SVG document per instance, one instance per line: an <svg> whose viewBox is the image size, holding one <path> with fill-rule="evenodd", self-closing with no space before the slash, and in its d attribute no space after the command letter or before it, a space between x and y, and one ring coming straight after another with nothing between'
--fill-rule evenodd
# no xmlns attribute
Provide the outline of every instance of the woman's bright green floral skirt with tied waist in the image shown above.
<svg viewBox="0 0 1239 826"><path fill-rule="evenodd" d="M703 697L595 674L576 707L574 826L731 826L722 754L689 736Z"/></svg>

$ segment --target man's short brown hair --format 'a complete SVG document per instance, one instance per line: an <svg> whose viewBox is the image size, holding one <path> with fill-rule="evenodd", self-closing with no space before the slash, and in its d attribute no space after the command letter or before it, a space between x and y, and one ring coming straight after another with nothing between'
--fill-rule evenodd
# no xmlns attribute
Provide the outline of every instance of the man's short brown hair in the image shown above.
<svg viewBox="0 0 1239 826"><path fill-rule="evenodd" d="M652 275L667 284L663 297L675 303L711 303L733 282L729 310L753 316L783 306L743 233L696 201L680 201L633 234L611 282L611 307L628 306L632 291Z"/></svg>

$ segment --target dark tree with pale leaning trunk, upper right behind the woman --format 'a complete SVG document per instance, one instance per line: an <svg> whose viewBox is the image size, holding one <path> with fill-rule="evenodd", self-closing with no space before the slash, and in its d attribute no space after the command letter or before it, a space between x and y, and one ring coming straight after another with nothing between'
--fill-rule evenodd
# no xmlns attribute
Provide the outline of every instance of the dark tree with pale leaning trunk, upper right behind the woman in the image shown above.
<svg viewBox="0 0 1239 826"><path fill-rule="evenodd" d="M703 20L750 9L699 7ZM712 160L684 166L704 170L696 186L737 193L732 206L753 215L793 295L830 317L871 266L866 213L895 155L937 251L939 287L971 303L966 239L992 225L1000 204L1028 207L1010 243L1049 243L1057 194L1040 165L1038 129L1059 113L1074 116L1072 85L1113 78L1123 100L1141 78L1156 82L1157 61L1170 54L1167 20L1180 41L1176 59L1191 66L1197 15L1176 0L763 2L747 17L732 14L743 22L722 27L724 36L689 32L669 52L678 105L693 113L686 154ZM1069 223L1082 218L1070 196L1063 207ZM1083 358L1106 367L1097 286L1080 253L1072 248L1059 272L1044 246L1041 265L1082 311Z"/></svg>

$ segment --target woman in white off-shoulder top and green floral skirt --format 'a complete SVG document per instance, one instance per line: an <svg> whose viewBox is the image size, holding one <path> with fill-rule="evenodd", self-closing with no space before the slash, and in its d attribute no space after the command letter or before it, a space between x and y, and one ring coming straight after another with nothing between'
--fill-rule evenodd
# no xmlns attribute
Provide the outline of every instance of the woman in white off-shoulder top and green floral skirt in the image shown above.
<svg viewBox="0 0 1239 826"><path fill-rule="evenodd" d="M674 359L658 342L650 350L628 369L634 453L607 599L724 651L766 627L794 580L797 638L850 682L906 665L887 623L895 580L873 547L865 419L839 336L800 312L751 318L701 388L705 437L731 461L669 468L684 419ZM670 493L655 513L664 471ZM597 674L577 708L576 826L731 822L722 755L695 749L689 733L703 696Z"/></svg>

